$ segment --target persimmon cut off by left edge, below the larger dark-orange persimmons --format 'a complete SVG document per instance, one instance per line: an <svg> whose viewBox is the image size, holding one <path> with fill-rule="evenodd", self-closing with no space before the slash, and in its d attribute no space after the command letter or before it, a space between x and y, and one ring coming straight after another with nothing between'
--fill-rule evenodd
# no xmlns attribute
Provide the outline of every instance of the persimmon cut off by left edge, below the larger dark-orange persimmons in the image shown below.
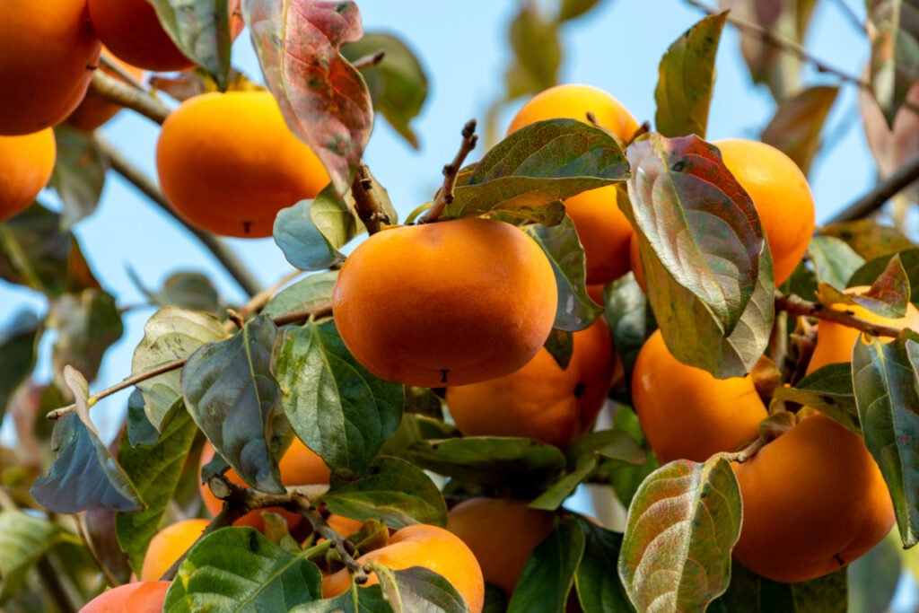
<svg viewBox="0 0 919 613"><path fill-rule="evenodd" d="M23 136L0 136L0 221L15 217L51 178L57 145L47 128Z"/></svg>

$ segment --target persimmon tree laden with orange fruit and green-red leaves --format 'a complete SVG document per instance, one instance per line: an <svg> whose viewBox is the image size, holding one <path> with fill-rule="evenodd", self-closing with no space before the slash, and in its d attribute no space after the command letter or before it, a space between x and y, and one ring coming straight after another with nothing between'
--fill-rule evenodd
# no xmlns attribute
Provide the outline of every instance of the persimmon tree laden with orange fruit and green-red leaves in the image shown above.
<svg viewBox="0 0 919 613"><path fill-rule="evenodd" d="M57 71L23 85L41 104L0 102L0 278L48 302L0 336L18 437L0 449L0 606L890 602L919 540L919 247L871 218L919 178L919 151L891 145L919 125L919 6L868 0L862 77L802 47L813 2L688 0L707 14L662 50L652 126L557 84L559 28L596 0L524 3L483 142L457 118L442 185L400 222L384 185L405 177L363 154L380 119L418 146L427 79L354 2L47 2L74 40L45 26L61 45L36 47L9 24L44 9L0 4L0 83L27 60ZM729 25L778 102L762 142L706 140ZM264 86L233 69L244 27ZM808 63L838 85L801 83ZM885 176L815 231L807 173L840 87L858 88ZM502 138L499 110L525 96ZM119 108L164 126L159 181L93 132ZM160 308L126 378L96 389L121 311L72 228L109 172L250 298L188 273L144 289ZM32 202L49 180L61 212ZM260 288L215 233L270 234L294 270ZM93 409L112 402L127 412L107 446ZM626 521L566 508L584 484Z"/></svg>

